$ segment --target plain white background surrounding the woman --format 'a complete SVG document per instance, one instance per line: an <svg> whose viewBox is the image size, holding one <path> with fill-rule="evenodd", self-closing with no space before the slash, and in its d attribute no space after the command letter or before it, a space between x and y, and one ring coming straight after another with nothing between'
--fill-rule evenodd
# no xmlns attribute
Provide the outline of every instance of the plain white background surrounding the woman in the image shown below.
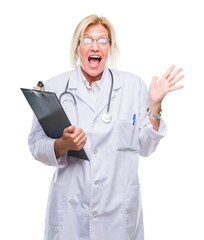
<svg viewBox="0 0 204 240"><path fill-rule="evenodd" d="M171 64L184 69L184 89L163 102L167 136L140 159L145 237L204 239L203 10L202 0L1 2L0 239L43 239L54 168L31 157L32 111L20 87L70 69L71 36L92 13L115 27L118 69L139 75L147 86Z"/></svg>

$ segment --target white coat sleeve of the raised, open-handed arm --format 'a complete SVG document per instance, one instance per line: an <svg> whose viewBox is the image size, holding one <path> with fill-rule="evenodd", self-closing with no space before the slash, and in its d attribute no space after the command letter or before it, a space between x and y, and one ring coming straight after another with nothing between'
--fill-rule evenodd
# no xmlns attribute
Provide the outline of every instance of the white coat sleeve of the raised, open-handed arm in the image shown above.
<svg viewBox="0 0 204 240"><path fill-rule="evenodd" d="M139 153L143 157L148 157L153 153L159 141L166 135L167 126L163 119L160 119L158 131L153 129L153 126L147 115L149 106L149 96L145 84L142 84L140 91L140 123L139 123Z"/></svg>

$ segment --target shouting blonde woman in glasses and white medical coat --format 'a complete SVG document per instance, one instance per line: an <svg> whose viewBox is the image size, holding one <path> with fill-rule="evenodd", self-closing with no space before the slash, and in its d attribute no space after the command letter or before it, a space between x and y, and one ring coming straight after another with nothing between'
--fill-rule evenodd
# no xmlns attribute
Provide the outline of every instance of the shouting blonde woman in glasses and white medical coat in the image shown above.
<svg viewBox="0 0 204 240"><path fill-rule="evenodd" d="M183 75L171 66L159 81L153 77L148 96L139 77L106 67L117 51L110 22L88 16L72 40L72 60L79 65L45 84L46 91L59 97L69 81L78 108L77 113L73 98L64 94L61 103L73 125L60 139L50 139L34 118L29 135L35 159L56 167L46 240L144 239L138 158L154 152L164 137L161 103L168 92L182 88L174 85ZM68 150L81 148L90 161L67 156Z"/></svg>

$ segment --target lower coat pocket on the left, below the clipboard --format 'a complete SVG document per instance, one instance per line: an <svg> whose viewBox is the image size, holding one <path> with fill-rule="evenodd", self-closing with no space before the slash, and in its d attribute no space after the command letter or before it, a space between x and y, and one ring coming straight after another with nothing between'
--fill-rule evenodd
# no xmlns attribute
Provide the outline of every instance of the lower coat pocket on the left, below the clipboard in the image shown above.
<svg viewBox="0 0 204 240"><path fill-rule="evenodd" d="M50 187L47 222L50 226L63 227L67 208L67 187L65 183L53 183Z"/></svg>

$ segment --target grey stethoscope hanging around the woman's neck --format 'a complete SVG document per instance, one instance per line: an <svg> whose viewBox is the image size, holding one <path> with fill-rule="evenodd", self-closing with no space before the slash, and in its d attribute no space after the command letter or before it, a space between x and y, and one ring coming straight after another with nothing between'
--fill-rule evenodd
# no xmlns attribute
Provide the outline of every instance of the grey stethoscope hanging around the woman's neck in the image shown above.
<svg viewBox="0 0 204 240"><path fill-rule="evenodd" d="M110 69L108 69L110 74L111 74L111 88L110 88L110 92L109 92L109 97L108 97L108 106L107 106L107 110L106 110L106 113L104 113L101 117L101 120L104 122L104 123L110 123L112 121L112 116L110 114L110 103L111 103L111 95L112 95L112 92L113 92L113 73ZM66 84L66 87L65 87L65 90L63 93L61 93L61 95L59 96L59 101L61 103L61 98L63 95L65 94L70 94L73 98L73 101L74 101L74 106L75 106L75 111L76 111L76 119L77 119L77 125L78 125L78 108L77 108L77 101L76 101L76 98L74 96L73 93L67 91L68 90L68 87L69 87L69 80L67 81L67 84Z"/></svg>

